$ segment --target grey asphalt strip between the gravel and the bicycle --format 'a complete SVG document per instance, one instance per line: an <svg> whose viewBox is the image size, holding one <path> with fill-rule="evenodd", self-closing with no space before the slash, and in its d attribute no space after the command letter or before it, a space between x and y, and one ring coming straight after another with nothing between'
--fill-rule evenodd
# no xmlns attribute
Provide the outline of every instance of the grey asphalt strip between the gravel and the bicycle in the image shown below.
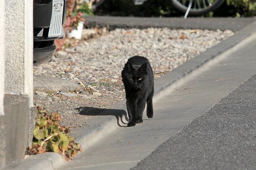
<svg viewBox="0 0 256 170"><path fill-rule="evenodd" d="M110 30L116 28L148 28L148 27L168 27L171 29L209 29L209 30L232 30L238 31L244 26L255 21L255 17L230 18L214 17L199 18L188 17L110 17L95 16L85 17L87 27L109 27Z"/></svg>

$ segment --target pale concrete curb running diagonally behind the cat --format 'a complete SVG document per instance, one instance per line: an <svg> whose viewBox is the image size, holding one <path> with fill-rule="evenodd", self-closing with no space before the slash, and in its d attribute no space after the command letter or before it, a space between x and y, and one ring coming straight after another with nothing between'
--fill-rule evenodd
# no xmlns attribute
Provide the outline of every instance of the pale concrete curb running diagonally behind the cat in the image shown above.
<svg viewBox="0 0 256 170"><path fill-rule="evenodd" d="M183 65L175 68L170 73L155 80L155 99L157 100L165 93L165 90L171 88L174 84L183 81L189 77L195 70L207 65L209 61L218 58L220 54L225 55L232 52L248 41L250 36L255 36L256 21L242 28L238 33L220 42L216 46L203 52L202 54L190 59ZM253 35L254 34L254 35ZM89 148L98 140L104 138L119 126L126 126L126 106L125 101L119 102L115 109L103 111L99 116L101 119L94 119L95 126L86 133L77 136L76 142L80 143L83 149ZM86 129L85 129L86 131ZM86 151L85 151L86 152ZM57 153L46 153L41 155L32 155L27 159L20 160L16 164L8 167L10 170L55 170L64 165L66 161Z"/></svg>

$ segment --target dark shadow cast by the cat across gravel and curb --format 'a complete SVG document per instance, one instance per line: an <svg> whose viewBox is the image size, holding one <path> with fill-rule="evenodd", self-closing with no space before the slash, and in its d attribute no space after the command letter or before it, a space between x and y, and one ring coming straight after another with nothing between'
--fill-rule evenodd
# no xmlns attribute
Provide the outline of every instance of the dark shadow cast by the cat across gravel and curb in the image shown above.
<svg viewBox="0 0 256 170"><path fill-rule="evenodd" d="M128 116L126 110L121 109L101 109L94 107L78 107L75 108L80 115L86 116L115 116L119 127L127 127Z"/></svg>

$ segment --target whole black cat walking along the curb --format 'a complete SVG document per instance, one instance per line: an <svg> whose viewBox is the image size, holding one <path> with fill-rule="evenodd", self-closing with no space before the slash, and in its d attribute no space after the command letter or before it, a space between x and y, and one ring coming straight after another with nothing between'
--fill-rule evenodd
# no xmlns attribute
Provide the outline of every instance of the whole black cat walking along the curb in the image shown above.
<svg viewBox="0 0 256 170"><path fill-rule="evenodd" d="M128 127L143 122L145 105L147 117L153 118L154 75L148 59L141 56L128 59L122 71L122 81L127 100Z"/></svg>

